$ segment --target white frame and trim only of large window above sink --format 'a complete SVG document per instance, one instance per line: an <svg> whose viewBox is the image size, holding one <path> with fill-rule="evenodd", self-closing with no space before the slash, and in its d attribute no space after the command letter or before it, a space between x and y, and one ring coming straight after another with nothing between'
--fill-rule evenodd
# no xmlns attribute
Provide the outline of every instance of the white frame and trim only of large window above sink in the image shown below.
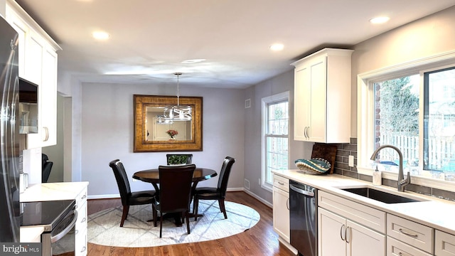
<svg viewBox="0 0 455 256"><path fill-rule="evenodd" d="M374 151L374 92L373 84L383 80L400 78L406 75L419 74L420 90L423 91L424 73L454 66L455 50L429 56L407 63L393 65L378 70L372 70L357 75L357 143L358 143L358 174L373 176L373 166L370 166L370 157ZM419 107L423 113L423 97L419 97ZM419 134L423 134L423 118L419 117ZM423 145L423 136L419 136L419 144ZM419 159L423 159L423 150L419 152ZM419 161L422 162L422 161ZM419 168L423 168L420 166ZM397 173L384 171L383 178L397 180ZM435 180L423 176L412 176L412 183L432 188L455 190L453 181Z"/></svg>

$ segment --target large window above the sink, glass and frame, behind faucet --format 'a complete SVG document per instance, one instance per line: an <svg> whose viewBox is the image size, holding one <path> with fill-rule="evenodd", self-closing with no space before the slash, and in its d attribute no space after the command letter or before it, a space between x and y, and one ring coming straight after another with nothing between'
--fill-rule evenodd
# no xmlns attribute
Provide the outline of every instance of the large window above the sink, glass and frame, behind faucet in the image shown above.
<svg viewBox="0 0 455 256"><path fill-rule="evenodd" d="M419 184L425 177L439 181L425 181L437 184L434 187L454 186L441 183L455 181L454 58L454 53L448 53L358 76L360 174L371 175L373 151L392 144L402 151L412 183ZM383 149L377 161L382 170L390 171L386 178L396 177L395 151Z"/></svg>

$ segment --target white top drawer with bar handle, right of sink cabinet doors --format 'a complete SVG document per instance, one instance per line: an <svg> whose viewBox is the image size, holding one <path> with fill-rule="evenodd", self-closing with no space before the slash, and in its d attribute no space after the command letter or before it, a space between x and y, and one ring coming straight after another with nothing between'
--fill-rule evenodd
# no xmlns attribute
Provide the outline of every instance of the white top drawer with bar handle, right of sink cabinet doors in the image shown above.
<svg viewBox="0 0 455 256"><path fill-rule="evenodd" d="M387 236L432 253L434 229L405 218L387 214Z"/></svg>

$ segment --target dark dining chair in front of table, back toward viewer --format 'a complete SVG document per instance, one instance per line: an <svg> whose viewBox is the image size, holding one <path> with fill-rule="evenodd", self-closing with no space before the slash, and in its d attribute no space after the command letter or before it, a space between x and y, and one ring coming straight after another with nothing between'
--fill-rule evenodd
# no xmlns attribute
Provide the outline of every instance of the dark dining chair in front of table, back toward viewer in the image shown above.
<svg viewBox="0 0 455 256"><path fill-rule="evenodd" d="M152 202L154 226L156 227L157 211L160 212L159 237L163 230L163 215L165 213L179 213L178 218L186 218L186 230L190 233L189 212L191 204L191 182L196 169L195 164L184 166L158 166L159 195Z"/></svg>

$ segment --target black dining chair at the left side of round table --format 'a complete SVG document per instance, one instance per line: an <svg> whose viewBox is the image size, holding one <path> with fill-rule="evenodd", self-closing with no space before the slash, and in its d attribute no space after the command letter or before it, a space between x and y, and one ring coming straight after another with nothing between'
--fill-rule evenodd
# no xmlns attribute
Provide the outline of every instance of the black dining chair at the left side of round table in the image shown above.
<svg viewBox="0 0 455 256"><path fill-rule="evenodd" d="M109 166L112 168L112 171L114 171L115 180L117 181L117 186L119 187L120 198L122 199L123 213L120 227L123 227L123 223L128 217L129 206L151 203L155 196L155 191L132 192L129 187L127 172L124 169L122 161L115 159L109 162Z"/></svg>

